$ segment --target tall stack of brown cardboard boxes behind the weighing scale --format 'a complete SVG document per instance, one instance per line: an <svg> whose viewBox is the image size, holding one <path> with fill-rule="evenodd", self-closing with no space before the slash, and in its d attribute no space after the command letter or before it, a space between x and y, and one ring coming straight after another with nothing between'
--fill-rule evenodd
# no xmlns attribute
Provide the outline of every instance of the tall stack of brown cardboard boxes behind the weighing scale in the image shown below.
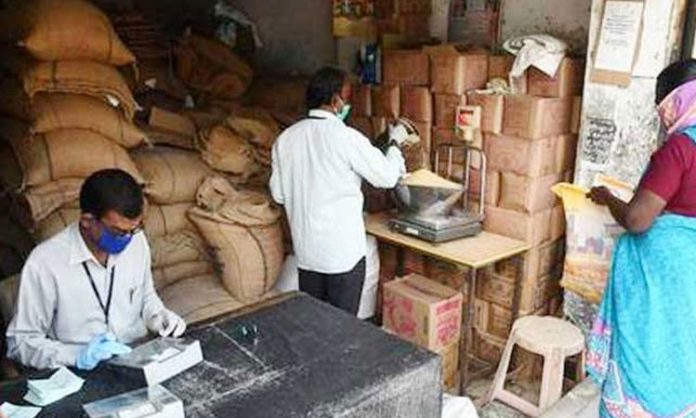
<svg viewBox="0 0 696 418"><path fill-rule="evenodd" d="M566 58L555 78L531 69L512 80L516 94L501 95L475 90L495 78L509 81L514 57L461 52L453 46L426 47L423 54L430 64L431 158L438 145L461 141L454 130L457 106L480 106L483 134L475 138L474 145L482 147L488 157L484 228L532 246L522 260L501 262L481 273L476 292L474 353L483 360L497 362L511 326L518 269L522 269L523 314L555 313L560 304L565 220L560 201L550 187L572 179L584 63ZM402 91L412 89L416 81L422 87L425 77L417 78L416 73L425 68L423 62L417 51L386 53L385 82L399 85ZM380 94L372 98L380 98L384 89L388 87L377 87ZM399 114L409 109L413 117L414 108L424 107L422 99L417 106L408 103L414 100L411 94L398 96ZM392 97L396 100L397 94L392 93ZM372 108L385 104L384 99L373 101ZM395 110L394 106L389 110ZM378 113L385 115L384 109ZM461 177L462 163L463 158L455 157L454 177ZM443 169L441 164L441 174ZM477 174L475 170L472 182L480 181ZM475 190L474 184L472 188ZM380 276L386 282L395 275L396 250L383 245L380 255ZM406 274L423 274L446 286L462 287L466 274L462 268L409 251L404 261Z"/></svg>

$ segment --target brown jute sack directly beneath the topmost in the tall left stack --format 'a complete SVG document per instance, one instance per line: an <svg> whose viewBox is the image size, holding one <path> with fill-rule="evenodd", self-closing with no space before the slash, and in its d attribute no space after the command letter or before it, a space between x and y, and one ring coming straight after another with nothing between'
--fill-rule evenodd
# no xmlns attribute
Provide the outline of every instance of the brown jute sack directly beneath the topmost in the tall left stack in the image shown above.
<svg viewBox="0 0 696 418"><path fill-rule="evenodd" d="M30 97L39 92L94 96L120 107L128 120L133 119L138 107L121 73L92 61L38 63L24 75L24 90Z"/></svg>

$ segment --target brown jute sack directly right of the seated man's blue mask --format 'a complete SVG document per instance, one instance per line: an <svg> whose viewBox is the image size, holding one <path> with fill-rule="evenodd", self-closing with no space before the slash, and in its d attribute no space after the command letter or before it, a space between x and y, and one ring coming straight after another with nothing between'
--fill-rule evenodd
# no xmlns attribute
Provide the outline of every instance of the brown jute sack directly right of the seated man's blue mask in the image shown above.
<svg viewBox="0 0 696 418"><path fill-rule="evenodd" d="M183 230L149 240L152 268L193 261L210 261L205 243L194 231Z"/></svg>

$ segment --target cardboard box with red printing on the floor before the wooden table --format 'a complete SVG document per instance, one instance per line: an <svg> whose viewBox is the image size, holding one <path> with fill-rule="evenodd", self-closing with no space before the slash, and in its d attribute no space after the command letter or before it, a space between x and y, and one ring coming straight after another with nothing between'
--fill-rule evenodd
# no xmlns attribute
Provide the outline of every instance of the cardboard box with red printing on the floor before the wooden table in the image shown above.
<svg viewBox="0 0 696 418"><path fill-rule="evenodd" d="M458 341L462 294L412 274L384 285L384 326L430 350Z"/></svg>

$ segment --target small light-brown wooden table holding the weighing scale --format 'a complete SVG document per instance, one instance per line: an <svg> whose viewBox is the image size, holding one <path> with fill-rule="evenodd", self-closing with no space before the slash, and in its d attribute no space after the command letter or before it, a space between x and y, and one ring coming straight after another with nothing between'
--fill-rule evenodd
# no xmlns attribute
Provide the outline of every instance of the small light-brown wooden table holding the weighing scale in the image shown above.
<svg viewBox="0 0 696 418"><path fill-rule="evenodd" d="M469 356L471 355L471 340L473 332L474 299L476 297L476 282L478 272L499 261L515 258L520 263L517 269L518 275L515 281L515 295L512 306L512 323L519 315L519 303L521 295L522 265L521 257L531 246L502 235L481 232L475 237L463 238L455 241L434 244L408 235L393 231L389 226L392 213L378 213L368 215L365 221L367 233L375 236L377 240L407 248L435 259L463 266L469 269L467 279L462 281L462 293L468 290L467 312L462 324L461 341L459 343L459 358L461 361L460 393L464 394L469 382ZM403 274L403 252L397 256L397 275ZM468 285L465 284L468 282ZM465 286L468 287L465 288Z"/></svg>

